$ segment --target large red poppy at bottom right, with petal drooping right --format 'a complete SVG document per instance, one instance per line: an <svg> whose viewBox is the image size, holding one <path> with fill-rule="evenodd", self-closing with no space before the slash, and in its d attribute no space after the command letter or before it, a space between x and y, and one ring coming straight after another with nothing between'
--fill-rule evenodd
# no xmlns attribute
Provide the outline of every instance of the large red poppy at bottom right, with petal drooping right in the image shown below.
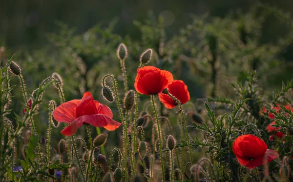
<svg viewBox="0 0 293 182"><path fill-rule="evenodd" d="M279 156L277 151L268 149L264 141L253 135L238 137L233 143L232 150L238 162L249 169L263 165L265 157L267 162L271 162Z"/></svg>

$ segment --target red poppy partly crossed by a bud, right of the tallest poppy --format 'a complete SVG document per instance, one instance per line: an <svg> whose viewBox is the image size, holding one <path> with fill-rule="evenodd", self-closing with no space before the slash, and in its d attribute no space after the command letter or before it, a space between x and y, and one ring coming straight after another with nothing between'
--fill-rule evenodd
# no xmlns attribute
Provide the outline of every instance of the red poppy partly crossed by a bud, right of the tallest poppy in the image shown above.
<svg viewBox="0 0 293 182"><path fill-rule="evenodd" d="M181 80L174 80L168 86L168 92L178 99L181 104L184 104L190 100L190 95L187 89L187 85ZM166 108L172 109L177 106L175 100L170 98L168 94L159 93L159 100L165 105Z"/></svg>

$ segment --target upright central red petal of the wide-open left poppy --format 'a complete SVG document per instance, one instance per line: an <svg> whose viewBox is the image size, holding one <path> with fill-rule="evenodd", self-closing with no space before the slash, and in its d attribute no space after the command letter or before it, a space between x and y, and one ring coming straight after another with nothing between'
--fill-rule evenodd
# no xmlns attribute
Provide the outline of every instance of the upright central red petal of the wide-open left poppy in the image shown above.
<svg viewBox="0 0 293 182"><path fill-rule="evenodd" d="M81 117L84 115L98 114L95 101L89 92L86 92L82 101L78 104L76 108L76 116Z"/></svg>

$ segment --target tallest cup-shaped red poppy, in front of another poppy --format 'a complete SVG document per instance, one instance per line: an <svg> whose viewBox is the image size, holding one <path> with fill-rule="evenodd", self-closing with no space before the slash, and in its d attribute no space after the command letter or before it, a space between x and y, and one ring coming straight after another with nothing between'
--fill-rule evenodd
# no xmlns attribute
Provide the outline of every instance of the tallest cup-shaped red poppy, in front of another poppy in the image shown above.
<svg viewBox="0 0 293 182"><path fill-rule="evenodd" d="M145 66L137 69L134 82L135 90L145 95L155 95L173 81L173 75L154 66Z"/></svg>

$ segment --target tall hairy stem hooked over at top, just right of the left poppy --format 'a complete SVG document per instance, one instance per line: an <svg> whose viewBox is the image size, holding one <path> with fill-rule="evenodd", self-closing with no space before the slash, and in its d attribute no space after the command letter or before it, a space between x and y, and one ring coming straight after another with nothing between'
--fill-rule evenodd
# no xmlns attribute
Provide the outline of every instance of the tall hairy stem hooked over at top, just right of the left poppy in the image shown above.
<svg viewBox="0 0 293 182"><path fill-rule="evenodd" d="M102 81L104 87L105 87L105 79L107 77L110 77L112 79L112 82L113 82L113 85L114 85L116 103L117 103L117 106L118 106L118 110L119 110L119 114L120 114L120 118L121 118L122 124L124 126L124 137L125 137L125 140L126 140L124 142L126 143L126 145L128 145L129 154L131 154L131 148L129 146L129 140L128 140L128 136L127 136L127 125L126 125L126 121L124 120L122 108L121 108L121 105L120 105L120 101L119 101L119 97L118 97L118 91L117 91L117 86L116 86L116 81L115 81L115 78L112 75L105 75L105 77L103 78L103 81ZM125 147L127 148L127 146L125 146ZM125 151L127 151L127 149ZM124 157L127 158L127 153L125 154ZM132 172L134 173L134 176L135 176L135 170L134 170L132 156L129 155L129 157L130 157Z"/></svg>

